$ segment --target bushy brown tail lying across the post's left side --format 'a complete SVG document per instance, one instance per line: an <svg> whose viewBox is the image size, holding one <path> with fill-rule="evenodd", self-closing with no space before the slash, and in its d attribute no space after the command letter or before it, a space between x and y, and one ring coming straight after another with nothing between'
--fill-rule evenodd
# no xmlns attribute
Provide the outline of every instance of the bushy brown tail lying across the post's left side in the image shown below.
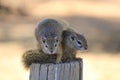
<svg viewBox="0 0 120 80"><path fill-rule="evenodd" d="M54 61L56 61L55 54L44 54L44 52L39 49L28 50L22 55L22 63L26 69L28 69L32 63L54 63Z"/></svg>

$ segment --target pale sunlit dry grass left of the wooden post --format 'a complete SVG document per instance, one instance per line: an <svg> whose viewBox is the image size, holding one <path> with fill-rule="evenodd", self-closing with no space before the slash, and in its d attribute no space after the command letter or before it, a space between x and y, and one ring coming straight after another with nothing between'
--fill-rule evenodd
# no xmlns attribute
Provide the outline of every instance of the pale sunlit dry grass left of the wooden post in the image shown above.
<svg viewBox="0 0 120 80"><path fill-rule="evenodd" d="M26 80L28 78L21 64L21 55L23 52L24 50L19 44L0 44L1 80Z"/></svg>

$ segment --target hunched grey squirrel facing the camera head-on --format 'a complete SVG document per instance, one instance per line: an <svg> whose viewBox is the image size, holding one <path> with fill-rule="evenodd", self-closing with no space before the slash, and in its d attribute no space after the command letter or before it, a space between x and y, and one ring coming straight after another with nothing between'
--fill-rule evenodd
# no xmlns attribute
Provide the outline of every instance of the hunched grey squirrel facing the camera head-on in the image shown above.
<svg viewBox="0 0 120 80"><path fill-rule="evenodd" d="M60 20L47 18L41 20L35 28L35 37L38 49L43 54L56 54L56 62L61 62L62 57L62 32L64 25Z"/></svg>

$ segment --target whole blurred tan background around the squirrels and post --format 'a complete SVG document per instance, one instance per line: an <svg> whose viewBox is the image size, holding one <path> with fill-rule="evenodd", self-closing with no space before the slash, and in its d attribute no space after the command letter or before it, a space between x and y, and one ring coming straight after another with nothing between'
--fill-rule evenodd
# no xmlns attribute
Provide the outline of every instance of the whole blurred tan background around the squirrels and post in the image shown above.
<svg viewBox="0 0 120 80"><path fill-rule="evenodd" d="M120 0L0 0L0 80L29 80L21 56L36 48L34 29L45 17L85 35L83 80L120 80Z"/></svg>

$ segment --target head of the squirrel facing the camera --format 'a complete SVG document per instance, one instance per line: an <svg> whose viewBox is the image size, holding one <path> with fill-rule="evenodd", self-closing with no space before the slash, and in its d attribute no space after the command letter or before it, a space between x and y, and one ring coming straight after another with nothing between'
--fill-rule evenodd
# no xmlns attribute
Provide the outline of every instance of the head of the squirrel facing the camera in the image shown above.
<svg viewBox="0 0 120 80"><path fill-rule="evenodd" d="M56 54L59 43L59 38L57 36L41 38L41 48L46 54Z"/></svg>

